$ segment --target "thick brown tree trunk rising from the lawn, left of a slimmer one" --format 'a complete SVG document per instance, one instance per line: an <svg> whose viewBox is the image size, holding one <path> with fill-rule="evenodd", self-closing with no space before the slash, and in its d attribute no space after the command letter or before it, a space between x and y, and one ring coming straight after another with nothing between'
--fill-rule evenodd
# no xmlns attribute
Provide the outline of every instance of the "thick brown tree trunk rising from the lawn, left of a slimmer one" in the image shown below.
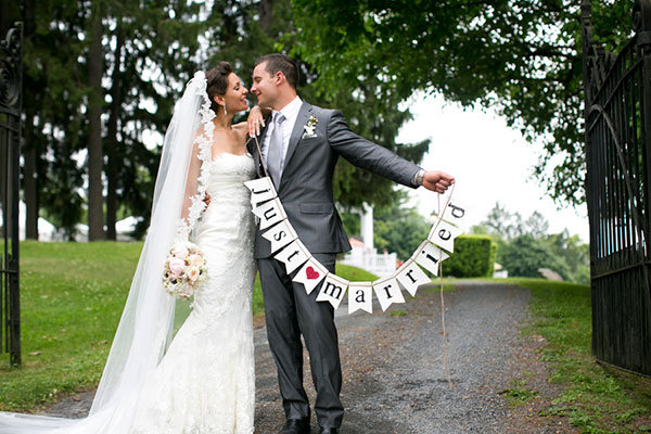
<svg viewBox="0 0 651 434"><path fill-rule="evenodd" d="M88 53L88 241L104 239L102 197L102 11L101 3L93 4L90 50Z"/></svg>

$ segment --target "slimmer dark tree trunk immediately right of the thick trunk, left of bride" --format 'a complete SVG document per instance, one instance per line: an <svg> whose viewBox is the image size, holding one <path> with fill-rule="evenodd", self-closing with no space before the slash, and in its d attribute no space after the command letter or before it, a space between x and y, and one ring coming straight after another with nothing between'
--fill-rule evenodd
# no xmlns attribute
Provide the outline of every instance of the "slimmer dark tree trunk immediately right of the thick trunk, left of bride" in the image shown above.
<svg viewBox="0 0 651 434"><path fill-rule="evenodd" d="M124 36L122 33L122 23L117 25L117 41L115 47L115 63L113 67L111 87L111 117L108 118L107 137L106 137L106 239L116 240L115 221L117 214L117 119L119 117L119 108L122 105L122 50L124 46Z"/></svg>

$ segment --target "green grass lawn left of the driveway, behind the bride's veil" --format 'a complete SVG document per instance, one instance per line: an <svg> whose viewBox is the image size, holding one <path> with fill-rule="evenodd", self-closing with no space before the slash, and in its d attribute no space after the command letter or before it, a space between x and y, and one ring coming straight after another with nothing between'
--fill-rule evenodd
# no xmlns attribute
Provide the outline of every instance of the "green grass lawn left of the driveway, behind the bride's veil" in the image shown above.
<svg viewBox="0 0 651 434"><path fill-rule="evenodd" d="M23 368L0 357L0 410L35 411L97 386L141 250L142 243L21 243ZM337 273L375 279L344 265ZM253 309L264 311L257 277ZM182 320L189 303L178 302L177 310Z"/></svg>

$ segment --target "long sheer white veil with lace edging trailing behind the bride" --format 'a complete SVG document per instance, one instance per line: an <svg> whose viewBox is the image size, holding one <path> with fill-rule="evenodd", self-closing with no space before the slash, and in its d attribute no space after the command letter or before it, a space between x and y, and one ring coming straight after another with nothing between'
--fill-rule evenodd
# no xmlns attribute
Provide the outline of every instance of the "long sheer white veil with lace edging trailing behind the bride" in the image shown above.
<svg viewBox="0 0 651 434"><path fill-rule="evenodd" d="M149 232L89 416L75 420L0 412L0 434L130 432L142 385L171 339L175 301L163 289L163 265L171 244L188 239L205 207L209 174L202 163L210 159L214 116L205 74L197 72L165 133Z"/></svg>

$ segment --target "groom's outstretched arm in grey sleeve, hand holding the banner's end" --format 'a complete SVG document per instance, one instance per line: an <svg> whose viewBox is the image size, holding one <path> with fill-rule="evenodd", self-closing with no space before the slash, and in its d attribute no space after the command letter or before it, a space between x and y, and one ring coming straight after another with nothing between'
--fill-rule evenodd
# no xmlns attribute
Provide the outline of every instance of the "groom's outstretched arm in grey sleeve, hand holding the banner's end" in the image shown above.
<svg viewBox="0 0 651 434"><path fill-rule="evenodd" d="M335 110L328 122L330 145L352 164L383 176L403 186L444 193L455 179L436 170L423 170L420 166L396 155L354 132L344 115Z"/></svg>

